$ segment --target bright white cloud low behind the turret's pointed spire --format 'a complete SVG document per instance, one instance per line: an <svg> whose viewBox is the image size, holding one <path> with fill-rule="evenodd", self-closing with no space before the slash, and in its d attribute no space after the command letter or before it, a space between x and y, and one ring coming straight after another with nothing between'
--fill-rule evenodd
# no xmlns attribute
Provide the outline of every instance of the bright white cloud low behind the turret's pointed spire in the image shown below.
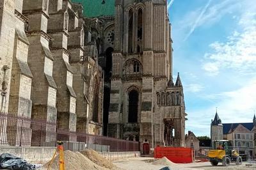
<svg viewBox="0 0 256 170"><path fill-rule="evenodd" d="M209 135L216 107L223 123L252 122L253 111L256 109L255 89L256 77L253 77L243 88L213 94L212 97L218 99L214 105L188 112L188 130L195 130L198 135Z"/></svg>

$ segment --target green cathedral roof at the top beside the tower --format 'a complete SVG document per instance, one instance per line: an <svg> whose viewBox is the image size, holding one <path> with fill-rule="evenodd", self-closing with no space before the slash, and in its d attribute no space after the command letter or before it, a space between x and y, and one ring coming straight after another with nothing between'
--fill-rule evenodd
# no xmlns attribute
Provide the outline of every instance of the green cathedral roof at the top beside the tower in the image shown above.
<svg viewBox="0 0 256 170"><path fill-rule="evenodd" d="M83 5L84 17L94 18L115 15L115 0L71 0Z"/></svg>

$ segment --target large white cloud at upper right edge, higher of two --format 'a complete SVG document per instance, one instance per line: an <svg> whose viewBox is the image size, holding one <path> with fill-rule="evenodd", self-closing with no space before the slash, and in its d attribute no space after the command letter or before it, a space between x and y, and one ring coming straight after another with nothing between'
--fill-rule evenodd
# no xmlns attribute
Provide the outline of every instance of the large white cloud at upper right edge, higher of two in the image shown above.
<svg viewBox="0 0 256 170"><path fill-rule="evenodd" d="M205 54L202 65L209 75L218 75L221 68L239 73L256 72L256 13L244 13L238 24L241 31L234 30L226 42L209 45L213 51Z"/></svg>

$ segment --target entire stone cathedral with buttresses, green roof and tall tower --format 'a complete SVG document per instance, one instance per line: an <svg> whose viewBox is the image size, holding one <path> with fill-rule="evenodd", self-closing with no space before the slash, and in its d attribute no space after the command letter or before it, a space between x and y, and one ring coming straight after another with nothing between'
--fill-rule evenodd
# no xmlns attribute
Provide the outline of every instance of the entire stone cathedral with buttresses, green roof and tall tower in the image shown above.
<svg viewBox="0 0 256 170"><path fill-rule="evenodd" d="M184 146L168 18L166 0L1 0L1 112L64 132ZM0 126L8 140L8 122Z"/></svg>

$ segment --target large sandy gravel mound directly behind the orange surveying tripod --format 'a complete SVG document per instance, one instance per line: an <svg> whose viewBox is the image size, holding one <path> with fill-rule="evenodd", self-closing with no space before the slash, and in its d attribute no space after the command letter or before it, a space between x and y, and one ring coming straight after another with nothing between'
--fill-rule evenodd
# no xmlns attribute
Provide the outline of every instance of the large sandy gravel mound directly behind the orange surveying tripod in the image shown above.
<svg viewBox="0 0 256 170"><path fill-rule="evenodd" d="M60 157L59 155L54 158L50 169L60 169L59 164ZM84 157L79 152L73 152L73 151L64 151L64 162L65 162L65 169L74 169L74 170L81 170L81 169L92 169L92 170L104 170L106 168L100 167L94 162L92 162L90 159ZM44 165L44 167L48 167L50 162Z"/></svg>

